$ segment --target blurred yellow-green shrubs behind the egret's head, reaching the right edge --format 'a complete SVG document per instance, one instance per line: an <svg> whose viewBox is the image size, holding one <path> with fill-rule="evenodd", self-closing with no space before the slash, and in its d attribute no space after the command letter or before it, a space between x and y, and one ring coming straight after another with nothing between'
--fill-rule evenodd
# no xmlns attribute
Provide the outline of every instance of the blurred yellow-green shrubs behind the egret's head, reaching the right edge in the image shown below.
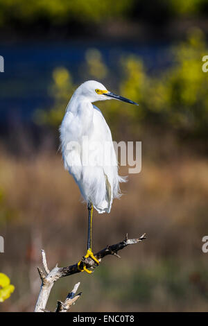
<svg viewBox="0 0 208 326"><path fill-rule="evenodd" d="M146 74L141 58L132 55L122 57L119 70L123 71L123 76L118 80L119 93L137 101L139 108L132 105L127 110L119 101L107 101L105 107L101 103L111 127L119 130L121 121L130 121L130 132L133 134L145 121L186 132L193 137L207 135L208 74L202 71L202 56L205 54L204 35L194 29L185 42L171 49L173 64L157 76ZM110 76L101 53L96 49L87 51L80 72L85 74L85 79L94 78L101 82ZM36 121L58 126L75 88L67 69L55 69L49 88L54 104L49 111L38 110Z"/></svg>

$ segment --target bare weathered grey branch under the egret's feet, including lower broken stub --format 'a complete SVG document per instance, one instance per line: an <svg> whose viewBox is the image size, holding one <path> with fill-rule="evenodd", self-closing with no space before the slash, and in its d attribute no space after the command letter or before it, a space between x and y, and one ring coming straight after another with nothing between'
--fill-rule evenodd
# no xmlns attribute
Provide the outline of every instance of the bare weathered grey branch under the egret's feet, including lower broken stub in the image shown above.
<svg viewBox="0 0 208 326"><path fill-rule="evenodd" d="M129 245L141 242L144 239L146 239L146 234L142 234L142 236L137 239L128 239L128 234L126 234L125 239L123 241L116 243L112 246L108 245L103 250L98 251L94 256L98 259L98 261L100 261L100 263L101 263L101 260L107 255L114 255L116 257L120 257L117 253L119 250L122 250L123 248L125 248ZM92 268L92 269L94 269L98 266L96 264L96 262L90 257L88 257L88 258L83 257L81 259L81 261L82 261L82 264L80 264L80 269L83 269L84 264L86 265L87 268ZM56 281L58 281L61 277L80 273L80 270L78 269L78 263L73 264L71 266L67 266L67 267L58 267L56 265L51 271L49 271L49 268L47 266L47 261L46 261L46 254L45 254L44 250L42 250L42 264L44 266L44 271L45 271L46 275L44 274L44 272L42 271L41 268L37 268L37 271L39 272L40 278L42 280L42 285L40 288L40 293L37 298L35 312L46 311L45 310L46 304L49 300L49 295L50 295L51 289L53 287L53 284ZM64 302L58 301L58 305L55 310L56 312L69 311L71 305L74 304L76 302L76 300L78 300L78 298L80 298L81 293L74 296L79 285L80 285L80 283L78 283L74 286L73 291L71 291L71 293L69 293L69 295L67 295L67 299Z"/></svg>

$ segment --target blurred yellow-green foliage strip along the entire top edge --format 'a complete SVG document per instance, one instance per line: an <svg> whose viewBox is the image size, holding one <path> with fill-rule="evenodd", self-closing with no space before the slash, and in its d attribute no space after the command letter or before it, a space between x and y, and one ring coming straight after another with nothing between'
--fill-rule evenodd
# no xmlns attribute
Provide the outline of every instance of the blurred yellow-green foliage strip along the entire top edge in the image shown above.
<svg viewBox="0 0 208 326"><path fill-rule="evenodd" d="M139 18L142 12L151 17L152 4L152 1L143 0L116 0L114 3L111 0L0 0L0 26L14 23L18 27L19 22L26 26L42 19L51 25L69 22L105 24L110 19L130 19L135 17L135 12ZM158 12L164 5L172 17L202 16L207 0L157 0ZM143 10L137 9L140 7Z"/></svg>

